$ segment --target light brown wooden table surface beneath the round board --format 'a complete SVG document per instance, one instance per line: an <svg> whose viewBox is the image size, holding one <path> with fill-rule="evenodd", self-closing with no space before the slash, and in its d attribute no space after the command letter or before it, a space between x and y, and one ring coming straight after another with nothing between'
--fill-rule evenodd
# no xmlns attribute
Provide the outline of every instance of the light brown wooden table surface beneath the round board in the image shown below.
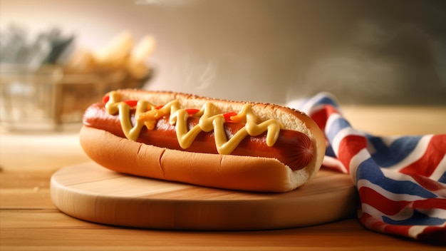
<svg viewBox="0 0 446 251"><path fill-rule="evenodd" d="M350 106L353 127L375 135L446 133L445 107ZM0 134L0 250L444 250L345 220L285 230L145 230L85 222L51 202L51 175L85 163L77 130Z"/></svg>

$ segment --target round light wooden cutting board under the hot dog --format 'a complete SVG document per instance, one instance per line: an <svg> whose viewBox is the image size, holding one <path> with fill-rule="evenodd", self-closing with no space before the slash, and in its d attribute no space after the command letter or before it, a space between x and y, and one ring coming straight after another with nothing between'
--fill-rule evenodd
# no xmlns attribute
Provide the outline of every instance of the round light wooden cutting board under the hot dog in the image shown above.
<svg viewBox="0 0 446 251"><path fill-rule="evenodd" d="M172 230L268 230L340 220L356 212L349 175L320 170L288 193L249 193L139 178L95 163L51 177L51 199L82 220Z"/></svg>

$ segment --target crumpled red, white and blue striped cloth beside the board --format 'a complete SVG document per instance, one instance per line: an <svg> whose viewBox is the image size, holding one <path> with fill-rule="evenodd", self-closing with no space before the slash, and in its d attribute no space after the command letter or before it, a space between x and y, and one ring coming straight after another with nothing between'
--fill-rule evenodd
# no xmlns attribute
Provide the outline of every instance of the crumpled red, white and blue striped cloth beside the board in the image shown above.
<svg viewBox="0 0 446 251"><path fill-rule="evenodd" d="M370 135L351 126L329 93L288 106L307 113L325 133L323 168L351 176L364 227L446 242L446 134Z"/></svg>

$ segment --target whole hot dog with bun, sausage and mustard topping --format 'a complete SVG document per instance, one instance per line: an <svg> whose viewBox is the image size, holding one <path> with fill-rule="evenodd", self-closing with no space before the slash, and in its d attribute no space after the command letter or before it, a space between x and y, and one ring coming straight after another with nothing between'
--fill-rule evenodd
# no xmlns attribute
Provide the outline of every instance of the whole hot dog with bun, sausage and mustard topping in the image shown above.
<svg viewBox="0 0 446 251"><path fill-rule="evenodd" d="M130 89L87 108L80 140L120 173L259 192L304 185L325 153L316 123L291 108Z"/></svg>

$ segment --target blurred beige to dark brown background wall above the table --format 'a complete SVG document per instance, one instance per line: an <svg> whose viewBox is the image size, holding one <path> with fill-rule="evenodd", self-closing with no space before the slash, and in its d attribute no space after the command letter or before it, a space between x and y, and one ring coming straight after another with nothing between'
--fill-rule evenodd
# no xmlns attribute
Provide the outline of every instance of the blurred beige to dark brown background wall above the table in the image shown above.
<svg viewBox="0 0 446 251"><path fill-rule="evenodd" d="M61 64L145 41L152 90L446 105L446 1L0 0L0 28L3 44L14 29L61 31Z"/></svg>

